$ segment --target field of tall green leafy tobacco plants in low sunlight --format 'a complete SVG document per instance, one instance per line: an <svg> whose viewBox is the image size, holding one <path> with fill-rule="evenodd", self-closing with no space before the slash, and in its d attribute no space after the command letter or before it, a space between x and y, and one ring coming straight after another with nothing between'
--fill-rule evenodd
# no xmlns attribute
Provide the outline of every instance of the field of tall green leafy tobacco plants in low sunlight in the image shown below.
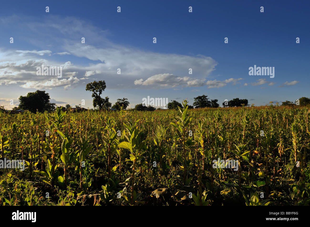
<svg viewBox="0 0 310 227"><path fill-rule="evenodd" d="M308 115L306 107L272 105L0 113L1 160L25 160L24 171L0 169L0 200L5 206L309 205Z"/></svg>

